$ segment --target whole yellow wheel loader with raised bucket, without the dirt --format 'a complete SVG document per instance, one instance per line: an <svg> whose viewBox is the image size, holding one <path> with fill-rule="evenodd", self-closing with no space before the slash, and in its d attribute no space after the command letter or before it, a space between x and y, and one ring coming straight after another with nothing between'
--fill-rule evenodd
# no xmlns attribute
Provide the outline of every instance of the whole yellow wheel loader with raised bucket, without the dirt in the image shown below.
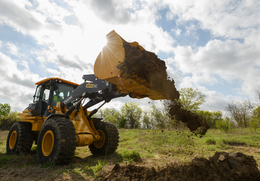
<svg viewBox="0 0 260 181"><path fill-rule="evenodd" d="M40 163L65 164L71 161L76 147L89 146L93 155L115 152L119 134L114 124L92 117L111 99L130 95L132 98L163 99L159 92L136 82L136 77L122 74L117 66L124 62L126 42L114 30L106 35L94 64L94 74L83 75L76 84L53 77L36 83L33 103L19 115L7 137L7 154L27 154L33 142ZM137 42L131 46L139 46ZM145 80L144 80L145 81ZM88 98L88 99L86 99ZM84 104L84 101L88 100ZM88 109L104 103L91 112Z"/></svg>

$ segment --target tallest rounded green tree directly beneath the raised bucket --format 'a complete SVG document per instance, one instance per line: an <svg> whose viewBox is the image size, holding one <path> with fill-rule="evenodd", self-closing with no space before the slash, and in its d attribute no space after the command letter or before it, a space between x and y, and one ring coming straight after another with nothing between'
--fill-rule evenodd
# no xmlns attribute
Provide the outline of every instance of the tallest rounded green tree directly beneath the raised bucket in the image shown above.
<svg viewBox="0 0 260 181"><path fill-rule="evenodd" d="M121 108L122 116L126 119L126 127L130 129L140 127L140 119L142 117L142 109L137 103L126 103Z"/></svg>

